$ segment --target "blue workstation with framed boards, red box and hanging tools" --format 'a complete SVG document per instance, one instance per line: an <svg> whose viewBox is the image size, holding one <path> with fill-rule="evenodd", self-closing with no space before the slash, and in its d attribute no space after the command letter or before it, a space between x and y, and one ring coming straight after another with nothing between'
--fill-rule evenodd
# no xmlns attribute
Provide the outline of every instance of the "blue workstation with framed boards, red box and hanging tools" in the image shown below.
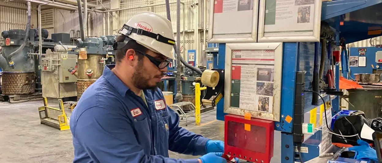
<svg viewBox="0 0 382 163"><path fill-rule="evenodd" d="M290 14L290 20L286 15L285 19L277 17L277 5L260 0L249 10L230 10L228 15L223 2L210 2L209 43L219 43L213 68L224 70L225 77L224 96L216 104L217 119L225 121L224 153L269 163L274 145L279 145L273 139L277 130L281 131L281 157L273 158L274 162L320 162L319 155L332 148L332 135L320 130L306 134L309 131L303 129L309 123L314 124L312 129L330 131L327 120L340 110L339 96L343 95L338 62L342 61L347 75L346 63L350 60L351 66L354 59L349 58L345 45L382 35L382 4L372 0L296 1L296 10L289 10L296 17ZM265 15L276 18L265 19ZM228 16L230 24L225 23ZM224 28L219 28L223 23ZM300 29L308 24L309 32ZM237 30L227 30L232 28ZM366 58L369 73L379 64L379 53L373 56L370 61Z"/></svg>

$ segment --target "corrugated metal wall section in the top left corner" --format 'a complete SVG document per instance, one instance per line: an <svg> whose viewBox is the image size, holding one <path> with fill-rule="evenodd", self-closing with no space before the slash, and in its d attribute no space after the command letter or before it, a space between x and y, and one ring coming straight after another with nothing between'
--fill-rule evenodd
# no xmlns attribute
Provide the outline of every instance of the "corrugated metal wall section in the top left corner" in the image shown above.
<svg viewBox="0 0 382 163"><path fill-rule="evenodd" d="M5 0L0 0L0 32L9 29L25 29L26 19L26 3L5 3Z"/></svg>

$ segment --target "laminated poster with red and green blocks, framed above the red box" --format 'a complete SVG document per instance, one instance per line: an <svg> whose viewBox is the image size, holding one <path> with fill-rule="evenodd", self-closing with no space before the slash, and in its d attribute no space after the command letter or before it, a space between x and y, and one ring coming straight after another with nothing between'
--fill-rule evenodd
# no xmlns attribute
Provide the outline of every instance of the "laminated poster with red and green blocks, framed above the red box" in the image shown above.
<svg viewBox="0 0 382 163"><path fill-rule="evenodd" d="M275 50L233 50L231 104L272 113Z"/></svg>

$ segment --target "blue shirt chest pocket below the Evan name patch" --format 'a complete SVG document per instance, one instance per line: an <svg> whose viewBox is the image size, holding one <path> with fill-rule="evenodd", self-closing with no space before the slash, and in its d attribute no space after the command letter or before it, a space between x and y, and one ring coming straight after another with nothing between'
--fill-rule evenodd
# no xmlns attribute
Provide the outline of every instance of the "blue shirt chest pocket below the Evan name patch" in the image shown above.
<svg viewBox="0 0 382 163"><path fill-rule="evenodd" d="M147 155L151 154L151 131L148 119L144 118L143 120L134 120L134 128L136 131L136 139L138 143L143 147L144 152Z"/></svg>

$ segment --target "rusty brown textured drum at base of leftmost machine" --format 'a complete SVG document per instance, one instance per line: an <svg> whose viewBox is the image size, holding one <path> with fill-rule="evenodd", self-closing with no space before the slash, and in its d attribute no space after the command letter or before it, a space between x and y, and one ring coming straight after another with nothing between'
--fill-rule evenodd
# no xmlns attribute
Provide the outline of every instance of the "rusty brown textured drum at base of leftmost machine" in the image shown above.
<svg viewBox="0 0 382 163"><path fill-rule="evenodd" d="M36 88L34 72L3 72L2 93L6 95L33 94Z"/></svg>

